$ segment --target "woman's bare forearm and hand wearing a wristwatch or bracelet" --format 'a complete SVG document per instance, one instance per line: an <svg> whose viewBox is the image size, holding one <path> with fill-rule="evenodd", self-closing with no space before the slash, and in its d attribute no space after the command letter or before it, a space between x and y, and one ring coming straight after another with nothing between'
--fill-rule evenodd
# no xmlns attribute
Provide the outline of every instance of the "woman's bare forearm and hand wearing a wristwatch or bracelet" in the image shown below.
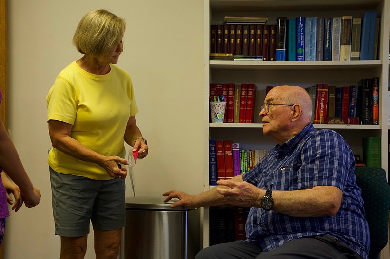
<svg viewBox="0 0 390 259"><path fill-rule="evenodd" d="M137 126L136 116L131 116L127 121L124 138L126 143L133 147L133 151L139 150L138 158L142 159L148 155L149 147L142 138L138 137L142 137L142 133Z"/></svg>

